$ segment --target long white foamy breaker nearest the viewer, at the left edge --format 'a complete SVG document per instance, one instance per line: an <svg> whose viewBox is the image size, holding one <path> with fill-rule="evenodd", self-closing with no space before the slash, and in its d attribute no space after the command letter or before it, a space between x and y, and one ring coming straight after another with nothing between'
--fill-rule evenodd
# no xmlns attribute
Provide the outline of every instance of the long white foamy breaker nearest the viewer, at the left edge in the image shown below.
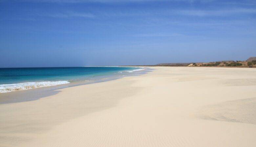
<svg viewBox="0 0 256 147"><path fill-rule="evenodd" d="M26 82L17 84L2 84L0 85L0 93L17 91L17 90L28 90L32 88L40 88L47 86L55 86L61 84L68 84L68 81L45 81L45 82Z"/></svg>

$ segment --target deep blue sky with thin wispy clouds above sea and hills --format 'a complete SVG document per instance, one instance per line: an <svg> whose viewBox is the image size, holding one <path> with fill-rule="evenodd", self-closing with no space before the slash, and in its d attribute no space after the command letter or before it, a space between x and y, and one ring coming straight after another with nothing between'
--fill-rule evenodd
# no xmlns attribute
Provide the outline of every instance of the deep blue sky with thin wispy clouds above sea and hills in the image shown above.
<svg viewBox="0 0 256 147"><path fill-rule="evenodd" d="M0 67L256 56L255 0L0 0Z"/></svg>

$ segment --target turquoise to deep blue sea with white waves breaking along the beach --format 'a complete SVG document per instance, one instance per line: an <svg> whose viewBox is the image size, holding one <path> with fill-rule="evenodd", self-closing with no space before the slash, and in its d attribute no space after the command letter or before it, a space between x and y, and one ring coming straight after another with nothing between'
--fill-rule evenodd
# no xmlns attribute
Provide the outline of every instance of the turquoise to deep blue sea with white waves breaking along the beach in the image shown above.
<svg viewBox="0 0 256 147"><path fill-rule="evenodd" d="M121 77L143 68L134 67L51 67L0 68L0 93L68 84L75 81Z"/></svg>

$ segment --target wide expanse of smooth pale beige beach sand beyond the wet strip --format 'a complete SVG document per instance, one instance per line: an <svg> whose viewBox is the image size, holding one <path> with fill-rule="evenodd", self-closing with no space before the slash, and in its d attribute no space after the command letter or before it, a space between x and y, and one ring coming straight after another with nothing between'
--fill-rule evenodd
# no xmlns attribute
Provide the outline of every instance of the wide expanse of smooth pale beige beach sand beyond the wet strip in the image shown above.
<svg viewBox="0 0 256 147"><path fill-rule="evenodd" d="M256 69L155 69L0 105L0 146L256 146Z"/></svg>

